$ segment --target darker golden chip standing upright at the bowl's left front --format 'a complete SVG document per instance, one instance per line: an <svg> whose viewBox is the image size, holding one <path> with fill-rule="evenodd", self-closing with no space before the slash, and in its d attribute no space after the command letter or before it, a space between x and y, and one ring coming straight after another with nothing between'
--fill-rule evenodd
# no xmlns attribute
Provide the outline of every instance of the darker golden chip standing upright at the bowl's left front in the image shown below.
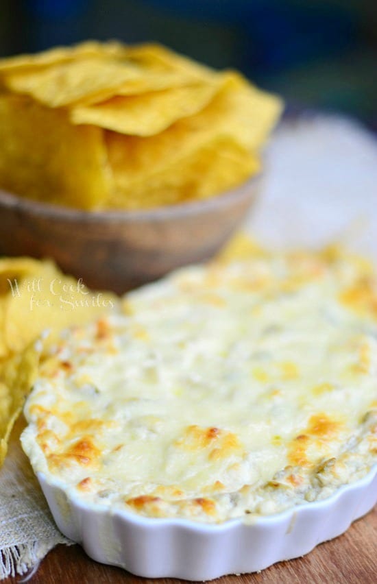
<svg viewBox="0 0 377 584"><path fill-rule="evenodd" d="M0 95L0 186L18 195L97 208L108 197L103 131L74 126L63 110Z"/></svg>

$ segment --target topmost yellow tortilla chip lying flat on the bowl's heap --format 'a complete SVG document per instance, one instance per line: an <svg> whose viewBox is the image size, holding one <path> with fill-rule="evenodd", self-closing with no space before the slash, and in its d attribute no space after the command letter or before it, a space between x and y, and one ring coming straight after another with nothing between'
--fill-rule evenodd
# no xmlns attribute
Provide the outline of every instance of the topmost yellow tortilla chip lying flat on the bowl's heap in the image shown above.
<svg viewBox="0 0 377 584"><path fill-rule="evenodd" d="M197 73L201 66L162 47L161 51L171 55L173 63L188 61L191 66L167 66L164 60L138 62L127 56L124 45L88 42L35 56L0 60L0 78L3 77L2 83L8 90L30 95L53 108L96 104L114 95L180 87L197 83L199 77L210 81L210 75Z"/></svg>

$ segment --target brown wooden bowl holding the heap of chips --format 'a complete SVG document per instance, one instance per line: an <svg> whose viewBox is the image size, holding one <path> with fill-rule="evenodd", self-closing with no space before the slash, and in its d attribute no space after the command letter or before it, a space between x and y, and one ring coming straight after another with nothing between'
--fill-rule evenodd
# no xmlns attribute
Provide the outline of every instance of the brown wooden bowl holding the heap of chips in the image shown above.
<svg viewBox="0 0 377 584"><path fill-rule="evenodd" d="M136 211L80 211L0 191L0 254L53 258L89 287L123 293L213 256L243 219L258 182Z"/></svg>

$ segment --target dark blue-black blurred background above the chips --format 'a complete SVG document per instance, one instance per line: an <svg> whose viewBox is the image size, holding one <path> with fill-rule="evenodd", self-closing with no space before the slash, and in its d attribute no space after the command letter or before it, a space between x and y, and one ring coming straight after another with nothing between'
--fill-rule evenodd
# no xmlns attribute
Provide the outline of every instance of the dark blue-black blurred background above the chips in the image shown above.
<svg viewBox="0 0 377 584"><path fill-rule="evenodd" d="M155 40L377 130L376 0L0 0L0 56Z"/></svg>

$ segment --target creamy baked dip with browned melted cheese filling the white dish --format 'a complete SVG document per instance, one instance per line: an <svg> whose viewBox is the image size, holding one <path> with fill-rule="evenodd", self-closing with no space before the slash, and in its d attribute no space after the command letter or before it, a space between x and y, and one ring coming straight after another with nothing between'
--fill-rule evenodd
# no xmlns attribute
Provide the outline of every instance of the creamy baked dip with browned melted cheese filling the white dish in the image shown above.
<svg viewBox="0 0 377 584"><path fill-rule="evenodd" d="M45 355L22 443L68 494L201 522L328 497L377 461L372 275L340 253L189 267Z"/></svg>

